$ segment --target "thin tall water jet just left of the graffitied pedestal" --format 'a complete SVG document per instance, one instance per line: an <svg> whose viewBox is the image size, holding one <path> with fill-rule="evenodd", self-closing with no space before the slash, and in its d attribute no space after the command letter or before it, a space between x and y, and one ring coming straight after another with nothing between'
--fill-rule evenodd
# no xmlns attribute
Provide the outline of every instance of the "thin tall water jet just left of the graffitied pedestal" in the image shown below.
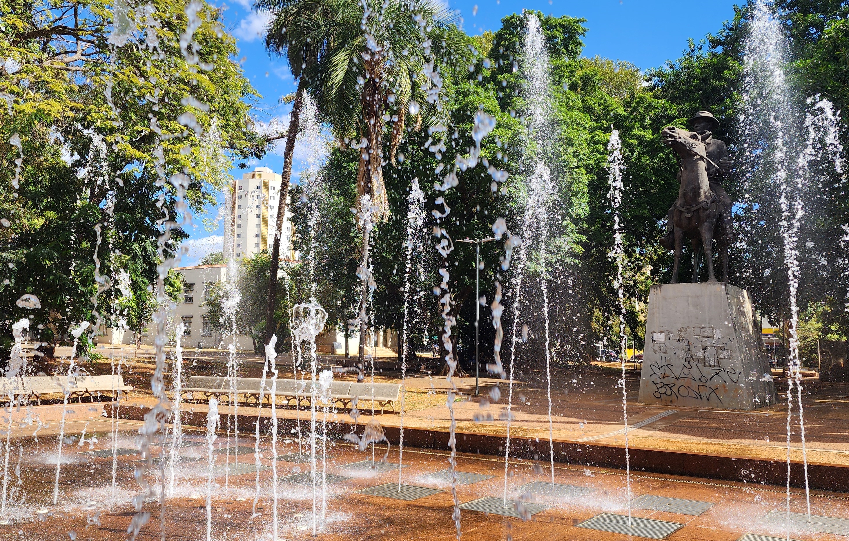
<svg viewBox="0 0 849 541"><path fill-rule="evenodd" d="M610 142L607 143L607 168L607 181L610 186L607 198L610 201L610 208L613 210L613 249L610 251L610 257L616 261L616 277L613 280L613 287L616 289L616 298L619 303L619 359L622 369L619 386L622 388L622 422L625 425L625 482L628 526L631 526L631 459L628 455L628 393L627 380L625 379L627 335L625 334L625 293L622 290L625 250L622 246L622 232L619 225L619 206L622 203L622 175L625 173L625 161L622 159L622 143L619 139L619 131L613 126L610 126Z"/></svg>

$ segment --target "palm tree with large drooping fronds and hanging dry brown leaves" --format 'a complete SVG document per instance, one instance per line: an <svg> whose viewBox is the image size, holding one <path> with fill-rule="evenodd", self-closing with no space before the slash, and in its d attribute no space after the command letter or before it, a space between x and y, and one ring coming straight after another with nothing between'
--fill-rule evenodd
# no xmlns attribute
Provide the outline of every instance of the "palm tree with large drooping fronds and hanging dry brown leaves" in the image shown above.
<svg viewBox="0 0 849 541"><path fill-rule="evenodd" d="M318 1L318 0L317 0ZM329 2L328 2L329 3ZM335 136L360 150L357 193L363 226L363 280L359 306L360 351L367 331L369 222L390 214L383 181L384 134L391 123L390 161L412 117L415 129L430 125L434 139L445 137L447 111L441 92L441 67L468 59L469 39L457 17L432 0L340 1L336 10L312 24L325 32L327 46L318 61L304 65L304 77L319 112ZM288 32L288 30L287 30ZM368 197L365 197L368 196ZM368 208L363 209L363 204Z"/></svg>

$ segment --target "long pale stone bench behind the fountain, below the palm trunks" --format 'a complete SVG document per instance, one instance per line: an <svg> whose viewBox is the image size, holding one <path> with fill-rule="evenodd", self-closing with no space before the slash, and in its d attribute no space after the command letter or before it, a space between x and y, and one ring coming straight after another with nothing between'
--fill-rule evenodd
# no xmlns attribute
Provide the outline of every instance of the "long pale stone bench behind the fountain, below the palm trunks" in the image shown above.
<svg viewBox="0 0 849 541"><path fill-rule="evenodd" d="M186 387L181 389L181 398L195 400L195 394L202 394L205 399L221 399L233 392L238 400L238 395L245 397L245 403L259 404L260 396L263 403L271 404L272 380L266 379L265 389L261 390L262 380L258 377L237 377L235 388L231 388L231 382L227 377L216 376L191 376L188 378ZM380 404L380 411L391 407L395 411L395 402L401 393L399 383L371 383L358 382L333 382L330 384L330 400L333 404L342 407L350 407L351 401L357 397L361 400L372 400ZM275 388L275 404L309 405L312 400L312 382L293 379L278 379ZM316 394L319 394L318 388ZM188 395L188 396L187 396ZM281 402L282 399L282 402Z"/></svg>

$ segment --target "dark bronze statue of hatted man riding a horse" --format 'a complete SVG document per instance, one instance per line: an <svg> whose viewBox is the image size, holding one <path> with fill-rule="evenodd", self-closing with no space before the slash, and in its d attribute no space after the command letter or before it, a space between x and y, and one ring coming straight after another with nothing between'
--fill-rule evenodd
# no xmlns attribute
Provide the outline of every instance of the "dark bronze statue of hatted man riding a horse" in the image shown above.
<svg viewBox="0 0 849 541"><path fill-rule="evenodd" d="M693 279L699 280L701 252L704 249L708 282L717 282L713 271L713 240L722 263L722 282L728 279L728 246L734 238L731 198L720 181L731 171L731 159L725 142L713 138L719 128L708 111L699 111L687 121L692 131L667 126L661 131L663 142L681 159L678 170L678 199L669 209L666 236L661 246L675 250L672 281L678 282L678 265L684 239L693 246Z"/></svg>

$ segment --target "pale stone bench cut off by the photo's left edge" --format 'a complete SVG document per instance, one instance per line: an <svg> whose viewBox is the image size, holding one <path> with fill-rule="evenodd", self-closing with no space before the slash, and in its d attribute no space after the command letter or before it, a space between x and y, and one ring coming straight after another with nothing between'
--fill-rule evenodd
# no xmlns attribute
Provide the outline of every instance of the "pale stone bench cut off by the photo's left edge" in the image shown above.
<svg viewBox="0 0 849 541"><path fill-rule="evenodd" d="M9 397L36 399L42 403L42 396L48 394L68 393L68 398L76 398L82 402L87 396L94 401L95 394L110 393L117 398L121 391L132 391L132 387L124 384L123 376L23 376L9 379L0 378L0 401L8 401Z"/></svg>

